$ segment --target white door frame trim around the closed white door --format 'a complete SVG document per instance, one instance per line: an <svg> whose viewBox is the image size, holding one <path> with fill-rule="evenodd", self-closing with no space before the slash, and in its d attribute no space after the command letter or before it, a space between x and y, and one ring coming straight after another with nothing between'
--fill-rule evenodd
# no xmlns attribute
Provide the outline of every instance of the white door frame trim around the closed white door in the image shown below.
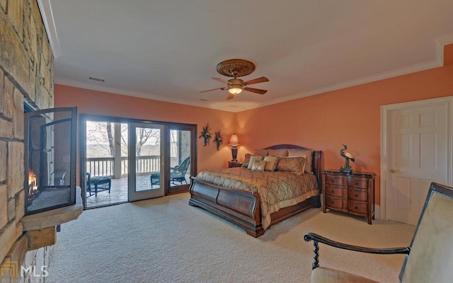
<svg viewBox="0 0 453 283"><path fill-rule="evenodd" d="M401 110L405 108L412 108L420 105L431 104L447 104L447 184L452 186L453 183L453 96L446 96L442 98L431 98L425 100L415 100L405 103L395 103L389 105L381 105L381 166L380 166L380 190L381 190L381 204L379 205L380 215L379 219L386 219L386 183L387 173L389 172L389 158L387 151L389 144L389 130L387 127L389 115L392 110Z"/></svg>

